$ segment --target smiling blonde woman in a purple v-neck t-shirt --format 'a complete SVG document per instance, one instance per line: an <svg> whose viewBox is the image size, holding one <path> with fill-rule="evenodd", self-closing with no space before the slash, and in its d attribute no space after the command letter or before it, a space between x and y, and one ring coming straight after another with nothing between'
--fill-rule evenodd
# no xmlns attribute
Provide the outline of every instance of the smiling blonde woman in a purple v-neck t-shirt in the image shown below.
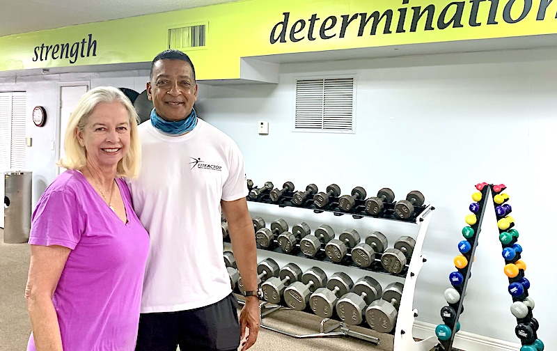
<svg viewBox="0 0 557 351"><path fill-rule="evenodd" d="M140 168L137 114L117 88L94 88L67 130L68 171L33 212L27 350L134 350L149 242L122 177Z"/></svg>

